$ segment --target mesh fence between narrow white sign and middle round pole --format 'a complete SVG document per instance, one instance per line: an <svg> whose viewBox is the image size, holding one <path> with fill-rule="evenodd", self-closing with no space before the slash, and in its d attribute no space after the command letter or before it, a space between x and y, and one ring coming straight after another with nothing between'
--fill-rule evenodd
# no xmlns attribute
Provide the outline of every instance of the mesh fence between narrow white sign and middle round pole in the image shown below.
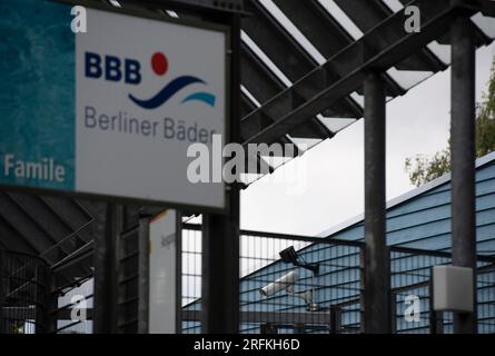
<svg viewBox="0 0 495 356"><path fill-rule="evenodd" d="M200 332L201 233L182 230L182 333ZM259 231L240 235L241 333L355 333L360 329L363 258L360 243ZM299 260L318 273L280 263L294 246ZM268 294L260 289L294 271L294 284Z"/></svg>

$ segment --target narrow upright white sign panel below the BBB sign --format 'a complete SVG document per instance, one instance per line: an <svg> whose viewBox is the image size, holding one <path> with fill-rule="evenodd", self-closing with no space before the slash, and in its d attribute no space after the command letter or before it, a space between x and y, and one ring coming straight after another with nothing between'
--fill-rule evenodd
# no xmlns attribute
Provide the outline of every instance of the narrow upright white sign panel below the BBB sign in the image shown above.
<svg viewBox="0 0 495 356"><path fill-rule="evenodd" d="M150 334L176 333L176 211L167 210L149 227Z"/></svg>

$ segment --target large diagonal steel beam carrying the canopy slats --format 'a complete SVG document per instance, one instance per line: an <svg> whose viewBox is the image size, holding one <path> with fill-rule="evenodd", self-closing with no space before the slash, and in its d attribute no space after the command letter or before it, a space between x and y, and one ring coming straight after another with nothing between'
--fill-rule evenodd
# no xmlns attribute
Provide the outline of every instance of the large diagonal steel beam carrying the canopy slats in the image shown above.
<svg viewBox="0 0 495 356"><path fill-rule="evenodd" d="M444 0L416 0L413 4L422 9L422 32L406 33L404 13L390 16L362 39L329 58L325 65L314 69L254 111L250 116L260 113L276 113L276 116L270 116L274 119L273 125L248 138L245 144L269 141L287 134L290 128L301 125L335 101L358 90L365 72L370 68L386 70L448 31L456 7ZM340 78L328 82L324 89L315 86L315 80L325 77L328 71L336 71ZM313 88L313 91L306 90L307 97L303 102L287 106L288 98L300 91L300 88Z"/></svg>

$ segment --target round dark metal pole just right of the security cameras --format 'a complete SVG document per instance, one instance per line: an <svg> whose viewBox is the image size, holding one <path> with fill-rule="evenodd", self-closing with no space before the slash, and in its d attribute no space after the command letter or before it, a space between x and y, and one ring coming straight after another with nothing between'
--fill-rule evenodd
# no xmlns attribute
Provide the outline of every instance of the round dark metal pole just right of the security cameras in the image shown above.
<svg viewBox="0 0 495 356"><path fill-rule="evenodd" d="M390 333L389 255L385 228L385 87L378 71L365 89L365 332Z"/></svg>

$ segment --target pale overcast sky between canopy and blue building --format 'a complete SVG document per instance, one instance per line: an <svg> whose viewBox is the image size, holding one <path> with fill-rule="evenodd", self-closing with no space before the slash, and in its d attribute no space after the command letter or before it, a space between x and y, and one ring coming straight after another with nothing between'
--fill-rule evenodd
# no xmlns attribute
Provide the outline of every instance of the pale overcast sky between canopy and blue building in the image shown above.
<svg viewBox="0 0 495 356"><path fill-rule="evenodd" d="M477 100L486 89L494 53L493 46L477 51ZM446 147L449 77L449 70L437 73L387 105L387 200L414 189L404 170L407 157L432 156ZM304 194L289 195L287 185L274 182L284 167L253 184L241 194L241 228L316 235L362 214L363 129L359 120L298 158L308 168Z"/></svg>

